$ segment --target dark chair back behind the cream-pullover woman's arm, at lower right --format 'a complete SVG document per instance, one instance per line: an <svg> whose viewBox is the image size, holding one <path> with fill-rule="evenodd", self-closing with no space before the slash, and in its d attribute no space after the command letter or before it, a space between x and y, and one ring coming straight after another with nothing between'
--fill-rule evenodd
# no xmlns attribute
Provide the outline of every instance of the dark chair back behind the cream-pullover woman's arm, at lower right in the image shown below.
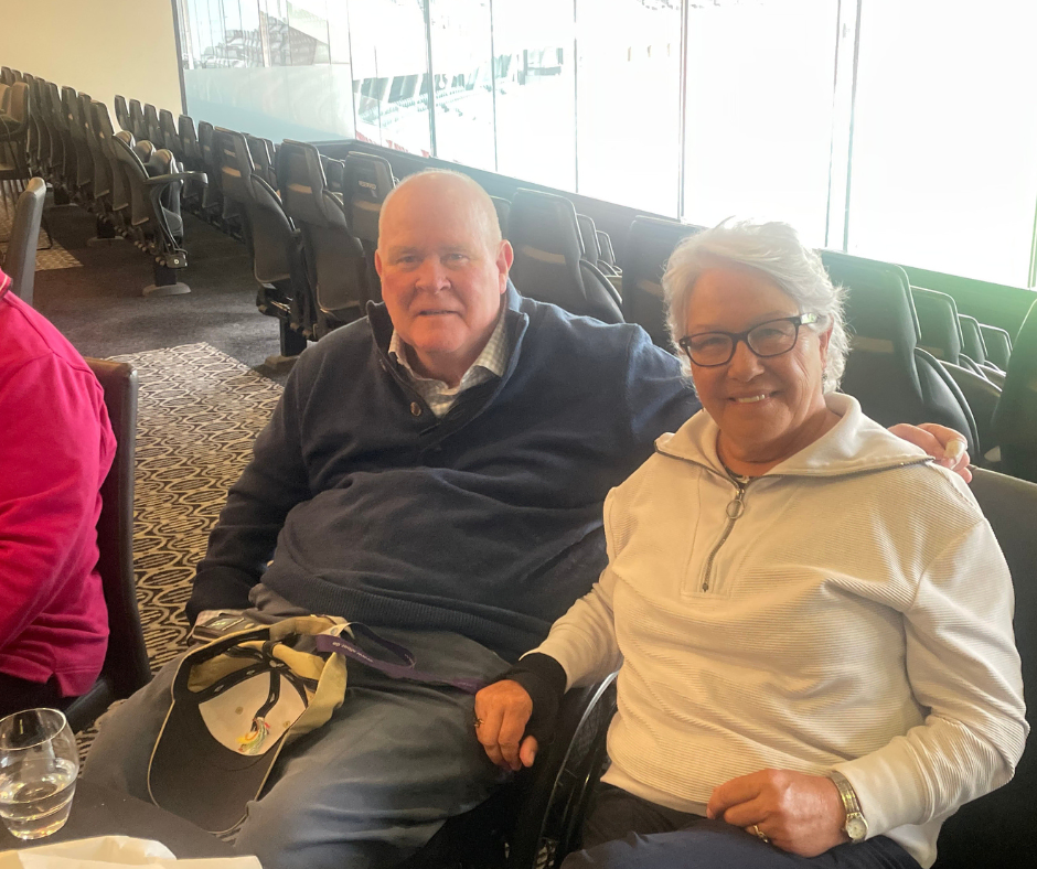
<svg viewBox="0 0 1037 869"><path fill-rule="evenodd" d="M1037 732L1037 485L993 471L974 470L972 493L994 529L1015 588L1015 643L1023 661L1026 718ZM962 806L940 830L933 869L1029 869L1037 814L1037 737L1030 733L1015 777Z"/></svg>

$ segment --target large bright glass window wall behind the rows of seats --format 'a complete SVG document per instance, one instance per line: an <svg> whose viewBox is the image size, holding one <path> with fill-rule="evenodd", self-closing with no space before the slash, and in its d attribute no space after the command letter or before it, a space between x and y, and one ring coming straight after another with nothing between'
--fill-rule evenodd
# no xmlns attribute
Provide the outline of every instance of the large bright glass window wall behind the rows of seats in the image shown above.
<svg viewBox="0 0 1037 869"><path fill-rule="evenodd" d="M1035 281L1034 2L174 2L197 118Z"/></svg>

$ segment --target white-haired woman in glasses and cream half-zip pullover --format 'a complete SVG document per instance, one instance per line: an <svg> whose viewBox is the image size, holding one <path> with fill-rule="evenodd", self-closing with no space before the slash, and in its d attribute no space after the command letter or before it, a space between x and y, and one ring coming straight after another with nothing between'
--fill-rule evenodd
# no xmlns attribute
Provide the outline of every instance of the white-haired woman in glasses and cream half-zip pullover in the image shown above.
<svg viewBox="0 0 1037 869"><path fill-rule="evenodd" d="M610 493L609 566L477 697L480 741L531 763L531 712L618 668L567 868L929 867L1027 734L997 541L835 391L841 293L791 227L721 224L663 282L704 409Z"/></svg>

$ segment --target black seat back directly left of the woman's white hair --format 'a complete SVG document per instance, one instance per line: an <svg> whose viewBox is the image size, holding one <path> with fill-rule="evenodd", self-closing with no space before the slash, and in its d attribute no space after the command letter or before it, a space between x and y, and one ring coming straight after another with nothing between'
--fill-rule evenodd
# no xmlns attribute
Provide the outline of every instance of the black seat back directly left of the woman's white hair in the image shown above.
<svg viewBox="0 0 1037 869"><path fill-rule="evenodd" d="M689 235L702 232L691 224L637 216L623 248L623 317L649 333L660 347L674 352L667 325L669 311L662 278L673 249Z"/></svg>

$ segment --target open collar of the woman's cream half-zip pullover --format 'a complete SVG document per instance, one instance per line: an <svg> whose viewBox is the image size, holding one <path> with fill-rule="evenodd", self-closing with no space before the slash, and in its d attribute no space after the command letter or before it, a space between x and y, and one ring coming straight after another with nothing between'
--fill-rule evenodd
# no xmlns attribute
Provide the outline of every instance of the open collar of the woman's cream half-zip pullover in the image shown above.
<svg viewBox="0 0 1037 869"><path fill-rule="evenodd" d="M828 393L825 405L842 419L809 447L774 465L762 476L841 476L919 464L931 459L923 450L891 434L860 410L856 398ZM655 451L671 459L703 464L727 475L717 457L719 428L699 410L673 434L655 441Z"/></svg>

